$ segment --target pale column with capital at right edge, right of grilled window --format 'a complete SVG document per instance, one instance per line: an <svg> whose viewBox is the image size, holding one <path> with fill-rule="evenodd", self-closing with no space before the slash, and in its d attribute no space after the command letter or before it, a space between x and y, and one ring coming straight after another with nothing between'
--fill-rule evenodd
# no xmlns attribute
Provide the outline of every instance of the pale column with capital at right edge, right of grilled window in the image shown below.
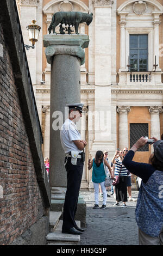
<svg viewBox="0 0 163 256"><path fill-rule="evenodd" d="M160 139L160 113L162 112L161 106L149 107L149 113L151 113L151 137Z"/></svg>

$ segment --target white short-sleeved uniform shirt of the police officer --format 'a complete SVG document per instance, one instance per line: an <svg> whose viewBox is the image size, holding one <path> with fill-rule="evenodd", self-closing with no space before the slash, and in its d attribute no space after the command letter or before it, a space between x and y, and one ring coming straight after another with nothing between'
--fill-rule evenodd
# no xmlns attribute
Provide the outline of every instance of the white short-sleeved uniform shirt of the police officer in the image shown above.
<svg viewBox="0 0 163 256"><path fill-rule="evenodd" d="M66 119L60 131L61 145L65 153L70 151L78 151L81 153L82 151L79 150L78 147L73 143L73 141L80 139L80 132L77 130L76 124L74 124L70 119Z"/></svg>

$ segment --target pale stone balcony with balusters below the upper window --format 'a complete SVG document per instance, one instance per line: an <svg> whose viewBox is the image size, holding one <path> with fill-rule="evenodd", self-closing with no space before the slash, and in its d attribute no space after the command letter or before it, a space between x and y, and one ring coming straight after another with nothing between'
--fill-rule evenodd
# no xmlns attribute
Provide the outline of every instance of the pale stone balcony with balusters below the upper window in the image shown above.
<svg viewBox="0 0 163 256"><path fill-rule="evenodd" d="M119 86L159 86L162 72L118 72Z"/></svg>

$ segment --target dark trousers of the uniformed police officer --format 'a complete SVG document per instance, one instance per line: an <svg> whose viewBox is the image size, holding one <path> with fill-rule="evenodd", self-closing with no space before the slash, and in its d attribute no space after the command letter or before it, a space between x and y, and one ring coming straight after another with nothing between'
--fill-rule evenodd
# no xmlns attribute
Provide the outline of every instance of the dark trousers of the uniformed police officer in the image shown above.
<svg viewBox="0 0 163 256"><path fill-rule="evenodd" d="M77 165L74 166L71 163L71 157L68 157L65 168L67 172L67 190L64 203L62 231L77 227L74 217L77 211L79 190L83 174L82 159L77 159Z"/></svg>

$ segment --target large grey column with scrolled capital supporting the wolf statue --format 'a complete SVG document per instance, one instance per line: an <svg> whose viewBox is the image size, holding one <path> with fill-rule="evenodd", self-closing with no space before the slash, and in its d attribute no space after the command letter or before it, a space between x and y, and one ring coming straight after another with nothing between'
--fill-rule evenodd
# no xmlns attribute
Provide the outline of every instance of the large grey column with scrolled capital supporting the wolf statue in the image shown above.
<svg viewBox="0 0 163 256"><path fill-rule="evenodd" d="M80 102L80 65L85 62L83 48L89 45L88 35L44 35L47 62L51 64L50 117L50 184L66 186L65 153L60 142L60 128L67 118L66 103Z"/></svg>

